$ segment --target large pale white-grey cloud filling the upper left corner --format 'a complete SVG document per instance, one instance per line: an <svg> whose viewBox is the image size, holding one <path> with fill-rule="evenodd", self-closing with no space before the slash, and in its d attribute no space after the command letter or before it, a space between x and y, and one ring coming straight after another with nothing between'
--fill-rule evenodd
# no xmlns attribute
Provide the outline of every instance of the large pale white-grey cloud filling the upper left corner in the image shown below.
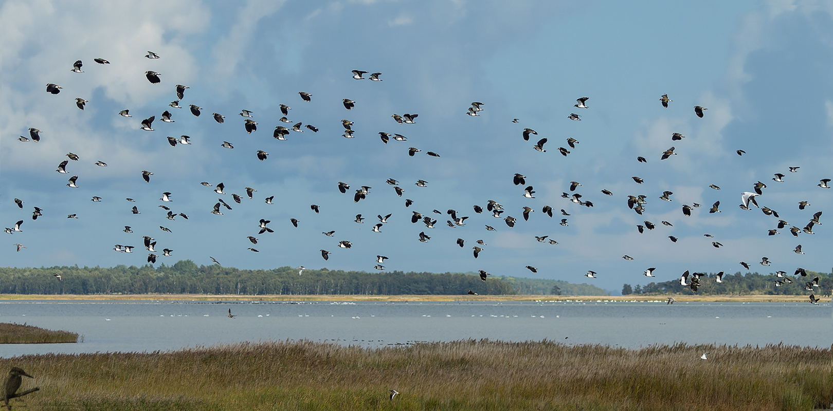
<svg viewBox="0 0 833 411"><path fill-rule="evenodd" d="M209 20L210 12L195 0L153 0L141 5L92 0L3 3L2 165L47 172L57 166L54 159L67 151L94 158L92 161L135 163L132 141L97 130L92 126L94 117L110 111L107 115L114 116L113 121L137 130L139 119L150 115L142 110L147 102L172 95L173 85L188 84L198 76L196 59L187 50L185 38L205 30ZM161 58L147 59L147 51ZM111 64L93 62L97 57ZM76 60L82 60L83 73L70 71ZM147 70L162 73L162 83L147 82ZM47 94L47 82L62 86L63 91ZM84 111L75 106L75 97L89 100ZM117 106L102 99L112 99ZM132 119L116 116L125 108L131 109ZM153 109L153 114L158 117L161 111ZM22 145L8 138L16 138L30 126L44 131L41 142ZM45 161L49 164L43 164Z"/></svg>

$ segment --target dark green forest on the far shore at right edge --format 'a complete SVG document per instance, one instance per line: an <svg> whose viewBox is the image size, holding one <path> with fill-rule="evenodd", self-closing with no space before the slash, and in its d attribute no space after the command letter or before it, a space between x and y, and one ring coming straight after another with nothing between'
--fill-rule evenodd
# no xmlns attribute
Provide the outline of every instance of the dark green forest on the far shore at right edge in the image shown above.
<svg viewBox="0 0 833 411"><path fill-rule="evenodd" d="M820 286L814 291L804 290L805 283L815 277L819 277ZM741 275L740 271L733 275L723 275L725 284L718 284L715 278L714 273L704 275L696 293L692 293L688 287L680 285L680 280L671 280L635 286L626 284L622 287L622 295L831 295L831 287L833 287L833 275L816 271L807 271L806 277L787 274L786 278L793 281L792 284L786 282L785 278L779 278L774 274L746 273ZM784 281L784 284L776 287L776 281L778 280Z"/></svg>

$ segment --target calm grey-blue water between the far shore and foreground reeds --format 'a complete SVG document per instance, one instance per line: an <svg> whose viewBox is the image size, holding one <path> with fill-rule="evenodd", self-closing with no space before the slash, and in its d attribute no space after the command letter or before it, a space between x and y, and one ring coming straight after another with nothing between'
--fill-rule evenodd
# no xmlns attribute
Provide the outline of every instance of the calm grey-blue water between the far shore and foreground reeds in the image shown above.
<svg viewBox="0 0 833 411"><path fill-rule="evenodd" d="M228 309L237 318L227 318ZM414 341L551 339L566 344L830 347L831 303L67 302L0 303L0 321L67 329L81 344L2 344L0 357L155 351L261 340L380 347Z"/></svg>

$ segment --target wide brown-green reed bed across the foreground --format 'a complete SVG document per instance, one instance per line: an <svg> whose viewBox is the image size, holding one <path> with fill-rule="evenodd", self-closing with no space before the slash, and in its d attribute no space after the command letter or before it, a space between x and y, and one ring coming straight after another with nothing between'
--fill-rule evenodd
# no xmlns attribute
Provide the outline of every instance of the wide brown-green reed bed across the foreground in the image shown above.
<svg viewBox="0 0 833 411"><path fill-rule="evenodd" d="M0 369L36 377L23 389L41 391L19 400L29 409L810 410L833 403L831 349L287 341L30 355L2 359ZM389 389L401 394L391 401Z"/></svg>

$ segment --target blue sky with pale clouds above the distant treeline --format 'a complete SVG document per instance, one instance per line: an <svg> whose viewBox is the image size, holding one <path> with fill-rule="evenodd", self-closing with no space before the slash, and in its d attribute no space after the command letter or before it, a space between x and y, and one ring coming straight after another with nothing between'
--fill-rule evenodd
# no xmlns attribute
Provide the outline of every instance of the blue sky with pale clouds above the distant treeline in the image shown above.
<svg viewBox="0 0 833 411"><path fill-rule="evenodd" d="M155 253L157 265L209 265L213 257L240 269L372 271L385 255L385 270L485 270L613 293L684 270L746 272L740 261L762 273L831 270L826 225L797 238L787 229L767 235L780 219L803 228L833 203L833 191L817 186L833 178L828 2L8 0L0 2L0 38L0 216L4 227L24 221L22 232L0 233L2 265L144 265L148 235L156 250L173 250ZM160 58L146 58L149 51ZM93 62L98 57L110 64ZM82 73L72 72L76 60ZM381 72L382 82L355 80L352 70ZM147 71L161 73L161 82L148 82ZM62 91L47 93L47 83ZM181 109L168 106L177 84L190 87ZM88 101L83 111L77 97ZM589 97L588 108L574 106L579 97ZM345 98L355 102L350 111ZM479 116L466 115L471 102L483 103ZM292 107L293 123L319 131L272 138L276 126L292 126L279 121L281 104ZM694 106L707 108L702 118ZM119 116L125 109L132 117ZM166 110L175 122L161 121ZM257 131L247 134L242 110L252 111ZM226 117L222 124L214 112ZM419 116L414 124L392 118L405 113ZM140 130L149 116L155 131ZM342 136L342 119L353 121L354 138ZM41 141L18 141L29 127L42 130ZM530 141L526 127L537 132ZM384 144L380 131L407 141ZM674 132L685 138L671 141ZM167 136L182 135L192 144L168 144ZM543 137L546 152L534 150ZM579 141L575 149L567 138ZM677 155L660 160L671 146ZM421 152L408 156L409 147ZM69 152L79 160L57 173ZM150 182L142 171L153 173ZM526 185L513 184L515 173ZM784 182L773 181L775 173ZM70 176L77 188L66 186ZM401 197L387 179L398 181ZM340 181L351 186L347 194ZM571 181L593 207L561 198L573 193ZM780 218L739 208L757 181L767 186L758 204ZM225 195L212 191L220 182ZM354 202L361 186L372 189ZM536 198L522 196L526 186ZM252 200L245 187L257 190ZM659 199L663 191L674 193L671 202ZM187 220L166 218L163 192L172 193L164 205ZM640 195L644 215L627 205ZM218 198L232 210L212 214ZM501 218L473 210L490 200L502 205ZM721 212L710 214L715 201ZM811 205L799 210L799 201ZM682 205L694 203L701 206L683 215ZM32 220L35 206L42 216ZM528 221L524 206L534 210ZM451 228L446 210L469 218ZM412 224L413 211L436 219L436 228ZM372 232L377 215L387 214ZM506 215L518 219L514 227ZM273 233L258 234L261 219ZM645 220L656 229L641 234L636 225ZM420 232L431 240L420 242ZM558 244L537 241L542 235ZM339 248L341 240L352 248ZM475 259L476 240L486 245ZM127 254L114 245L136 248ZM329 260L320 250L332 252ZM762 257L772 265L760 265ZM656 279L642 275L650 267ZM588 270L597 279L587 279Z"/></svg>

